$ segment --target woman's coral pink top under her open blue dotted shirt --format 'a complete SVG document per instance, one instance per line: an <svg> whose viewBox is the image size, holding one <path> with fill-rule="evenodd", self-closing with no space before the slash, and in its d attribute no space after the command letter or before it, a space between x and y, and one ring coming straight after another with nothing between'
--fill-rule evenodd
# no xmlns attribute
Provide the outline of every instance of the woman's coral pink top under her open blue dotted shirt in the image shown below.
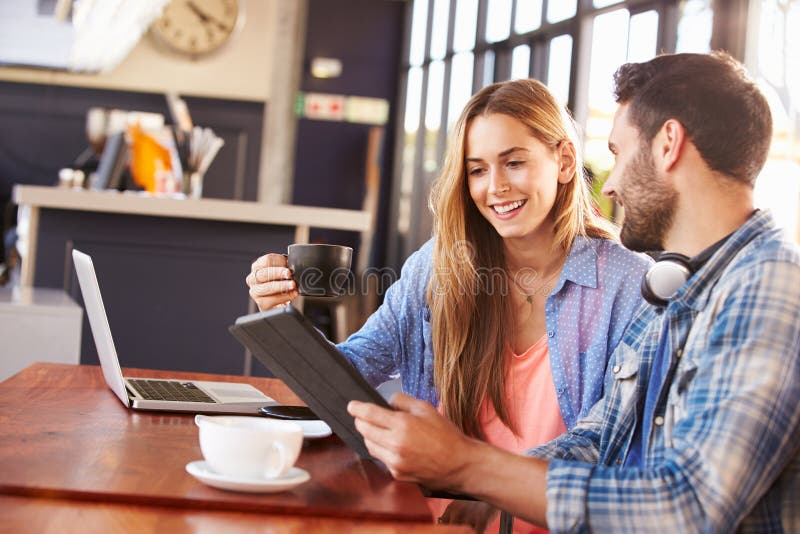
<svg viewBox="0 0 800 534"><path fill-rule="evenodd" d="M513 452L524 452L547 443L567 431L550 370L550 351L547 336L542 336L523 354L511 352L511 362L506 376L506 407L519 436L500 421L488 399L481 405L479 416L486 441L496 447ZM431 509L437 517L450 503L431 499ZM489 524L487 532L497 532L499 516ZM547 532L520 519L514 520L515 533Z"/></svg>

